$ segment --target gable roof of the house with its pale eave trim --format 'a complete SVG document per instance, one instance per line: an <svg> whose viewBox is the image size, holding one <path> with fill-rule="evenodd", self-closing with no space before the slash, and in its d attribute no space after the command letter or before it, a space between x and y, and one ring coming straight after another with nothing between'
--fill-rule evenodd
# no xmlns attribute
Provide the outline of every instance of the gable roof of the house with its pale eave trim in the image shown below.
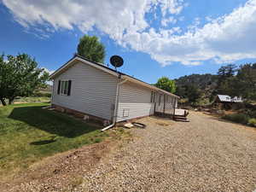
<svg viewBox="0 0 256 192"><path fill-rule="evenodd" d="M80 55L74 55L73 58L71 58L69 61L67 61L63 66L58 68L54 73L50 74L49 79L55 79L55 77L57 77L58 75L60 75L61 73L65 72L65 71L67 71L67 69L69 67L72 67L76 63L76 61L81 61L85 64L90 65L91 67L96 67L96 68L104 71L105 73L109 73L113 76L116 76L116 77L120 76L121 79L127 79L127 80L129 80L129 81L131 81L135 84L141 84L145 87L148 87L151 90L157 90L157 91L160 91L160 92L162 92L166 95L175 96L175 97L179 98L179 96L176 96L176 95L174 95L174 94L172 94L172 93L170 93L166 90L161 90L160 88L157 88L154 85L143 82L140 79L136 79L134 77L131 77L128 74L117 72L114 69L103 65L102 63L98 63L98 62L95 62L95 61L90 61L90 60L88 60L88 59L86 59L86 58L84 58L83 56L80 56Z"/></svg>

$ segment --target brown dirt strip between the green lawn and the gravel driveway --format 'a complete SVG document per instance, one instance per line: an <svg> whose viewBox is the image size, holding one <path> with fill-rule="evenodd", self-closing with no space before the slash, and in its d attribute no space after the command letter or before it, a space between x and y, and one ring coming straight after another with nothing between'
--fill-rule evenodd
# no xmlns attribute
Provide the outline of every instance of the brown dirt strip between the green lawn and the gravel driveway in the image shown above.
<svg viewBox="0 0 256 192"><path fill-rule="evenodd" d="M95 169L102 158L106 159L108 154L119 148L119 143L130 142L130 131L119 131L108 131L109 137L102 143L55 154L16 175L1 177L0 191L69 191L77 187L83 183L83 175Z"/></svg>

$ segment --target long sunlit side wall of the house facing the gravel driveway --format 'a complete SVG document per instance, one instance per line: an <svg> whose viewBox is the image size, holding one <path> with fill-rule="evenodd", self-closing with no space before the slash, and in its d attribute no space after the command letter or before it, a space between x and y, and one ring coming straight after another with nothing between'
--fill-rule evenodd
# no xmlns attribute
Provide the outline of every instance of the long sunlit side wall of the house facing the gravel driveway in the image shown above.
<svg viewBox="0 0 256 192"><path fill-rule="evenodd" d="M117 122L153 115L154 108L155 112L164 113L164 105L166 105L165 113L174 113L174 108L177 108L176 97L165 95L166 102L164 102L164 94L156 92L154 102L151 102L151 92L152 90L131 82L121 84Z"/></svg>

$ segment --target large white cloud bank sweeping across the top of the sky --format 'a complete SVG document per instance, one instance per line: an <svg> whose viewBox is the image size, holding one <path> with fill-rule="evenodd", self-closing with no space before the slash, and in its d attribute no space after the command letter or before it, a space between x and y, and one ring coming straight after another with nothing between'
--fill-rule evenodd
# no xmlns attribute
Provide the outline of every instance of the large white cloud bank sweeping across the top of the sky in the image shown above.
<svg viewBox="0 0 256 192"><path fill-rule="evenodd" d="M186 32L179 27L155 30L145 19L160 7L163 26L180 16L183 0L3 0L15 20L25 27L47 26L48 30L79 27L89 32L94 27L118 44L143 51L163 66L174 61L199 65L202 61L236 61L256 58L256 0L217 19L200 25L195 19ZM210 18L210 17L209 17ZM169 21L166 21L168 20ZM52 26L52 27L50 27ZM157 32L156 32L157 31Z"/></svg>

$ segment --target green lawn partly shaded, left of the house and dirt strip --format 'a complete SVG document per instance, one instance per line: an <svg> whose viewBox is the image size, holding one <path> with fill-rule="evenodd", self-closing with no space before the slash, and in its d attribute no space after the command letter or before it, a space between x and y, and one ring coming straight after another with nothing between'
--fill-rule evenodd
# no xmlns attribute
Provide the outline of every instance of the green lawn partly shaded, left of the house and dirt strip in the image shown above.
<svg viewBox="0 0 256 192"><path fill-rule="evenodd" d="M0 107L0 176L30 166L51 154L99 143L99 128L66 114L42 109L48 103Z"/></svg>

